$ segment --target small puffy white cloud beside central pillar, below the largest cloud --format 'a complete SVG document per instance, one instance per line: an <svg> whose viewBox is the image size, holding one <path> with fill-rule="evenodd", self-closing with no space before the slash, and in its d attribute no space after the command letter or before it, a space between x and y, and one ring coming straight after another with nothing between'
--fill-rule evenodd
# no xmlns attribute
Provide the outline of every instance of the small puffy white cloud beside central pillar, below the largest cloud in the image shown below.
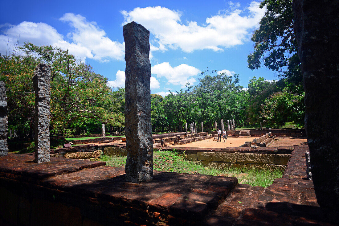
<svg viewBox="0 0 339 226"><path fill-rule="evenodd" d="M172 67L168 62L163 62L152 67L152 74L157 75L157 77L165 77L169 83L180 84L182 88L185 87L187 82L190 82L190 84L196 82L193 76L199 73L199 69L184 63Z"/></svg>

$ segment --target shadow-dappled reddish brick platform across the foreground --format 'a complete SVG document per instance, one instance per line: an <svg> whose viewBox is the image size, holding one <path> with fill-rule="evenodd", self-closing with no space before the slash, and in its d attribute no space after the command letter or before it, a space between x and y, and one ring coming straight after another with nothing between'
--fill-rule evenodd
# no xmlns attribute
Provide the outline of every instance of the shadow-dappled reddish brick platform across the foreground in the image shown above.
<svg viewBox="0 0 339 226"><path fill-rule="evenodd" d="M140 184L103 162L32 154L0 158L0 223L14 225L299 225L332 221L305 180L306 145L296 147L284 175L267 187L234 177L154 173ZM333 217L333 216L332 216Z"/></svg>

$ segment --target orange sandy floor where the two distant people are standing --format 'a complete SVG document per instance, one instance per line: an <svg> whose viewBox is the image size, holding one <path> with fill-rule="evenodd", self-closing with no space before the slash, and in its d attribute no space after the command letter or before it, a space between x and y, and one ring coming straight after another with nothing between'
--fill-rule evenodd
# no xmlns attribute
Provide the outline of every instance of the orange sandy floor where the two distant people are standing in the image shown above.
<svg viewBox="0 0 339 226"><path fill-rule="evenodd" d="M251 136L251 137L227 137L227 142L223 142L224 140L221 137L221 142L216 142L211 139L205 139L189 144L184 145L171 145L175 147L190 147L190 148L226 148L226 147L239 147L240 145L245 144L245 141L252 141L253 139L259 138L260 136Z"/></svg>

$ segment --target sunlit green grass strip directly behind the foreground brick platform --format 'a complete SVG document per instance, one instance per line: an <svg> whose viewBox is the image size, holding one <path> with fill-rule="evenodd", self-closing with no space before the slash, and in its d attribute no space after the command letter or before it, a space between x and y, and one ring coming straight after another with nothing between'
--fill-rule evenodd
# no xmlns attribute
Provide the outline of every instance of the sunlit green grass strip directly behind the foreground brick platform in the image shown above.
<svg viewBox="0 0 339 226"><path fill-rule="evenodd" d="M126 156L102 156L100 161L106 162L107 166L125 167ZM275 178L282 177L282 171L275 170L257 170L248 168L228 168L219 170L213 167L204 167L196 162L187 161L183 157L171 151L155 151L153 152L153 169L157 171L206 174L213 176L235 176L239 182L243 179L247 180L244 184L252 186L268 187L273 183ZM247 175L239 175L239 174Z"/></svg>

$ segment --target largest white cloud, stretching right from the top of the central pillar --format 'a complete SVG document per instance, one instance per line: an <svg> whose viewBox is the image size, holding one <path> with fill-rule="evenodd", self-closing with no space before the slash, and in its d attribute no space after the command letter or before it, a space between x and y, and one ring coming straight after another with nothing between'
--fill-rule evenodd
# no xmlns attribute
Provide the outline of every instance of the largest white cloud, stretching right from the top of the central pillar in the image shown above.
<svg viewBox="0 0 339 226"><path fill-rule="evenodd" d="M125 20L142 24L155 36L159 49L180 48L184 52L211 49L222 51L222 48L243 44L256 27L265 8L260 9L258 2L252 1L243 10L219 13L206 18L206 24L198 25L196 21L181 23L182 13L165 7L155 6L134 8L132 11L121 11ZM233 6L239 6L233 3ZM247 15L243 15L246 13Z"/></svg>

